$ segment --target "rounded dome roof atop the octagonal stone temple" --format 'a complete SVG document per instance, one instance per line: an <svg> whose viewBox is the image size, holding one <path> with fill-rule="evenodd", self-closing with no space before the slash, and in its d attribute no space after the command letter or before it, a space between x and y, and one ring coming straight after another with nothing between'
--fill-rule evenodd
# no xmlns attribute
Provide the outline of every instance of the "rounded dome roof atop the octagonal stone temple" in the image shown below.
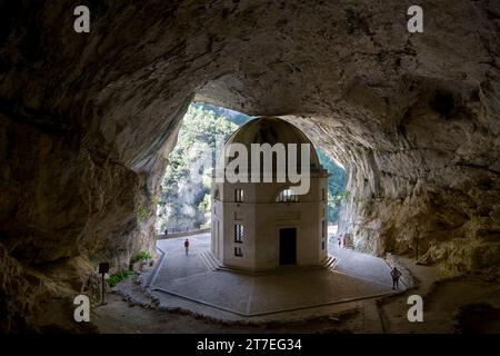
<svg viewBox="0 0 500 356"><path fill-rule="evenodd" d="M251 144L309 144L311 147L310 162L311 167L321 167L318 155L311 140L292 123L276 117L259 117L253 119L238 130L236 130L226 141L230 144L242 144L250 152ZM298 149L298 162L300 162L300 147Z"/></svg>

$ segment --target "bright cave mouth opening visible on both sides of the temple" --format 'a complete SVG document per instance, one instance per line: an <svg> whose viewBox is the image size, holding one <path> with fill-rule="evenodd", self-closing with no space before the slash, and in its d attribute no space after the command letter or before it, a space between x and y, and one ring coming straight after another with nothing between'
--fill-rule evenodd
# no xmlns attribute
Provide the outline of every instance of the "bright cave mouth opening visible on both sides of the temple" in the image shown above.
<svg viewBox="0 0 500 356"><path fill-rule="evenodd" d="M228 139L253 118L204 101L194 100L189 105L156 199L157 235L174 237L210 229L211 170L217 140ZM347 197L346 170L320 146L314 147L329 172L327 221L331 235L337 231L340 208Z"/></svg>

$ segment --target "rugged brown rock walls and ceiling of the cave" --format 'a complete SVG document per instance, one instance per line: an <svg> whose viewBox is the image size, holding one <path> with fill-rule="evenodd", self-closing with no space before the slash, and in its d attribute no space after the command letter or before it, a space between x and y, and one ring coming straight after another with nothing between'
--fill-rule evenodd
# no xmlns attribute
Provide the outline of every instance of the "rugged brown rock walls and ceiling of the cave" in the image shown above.
<svg viewBox="0 0 500 356"><path fill-rule="evenodd" d="M341 162L356 250L498 276L500 7L421 1L410 33L407 2L89 1L88 33L71 1L0 2L0 328L81 330L99 263L154 258L192 100L282 118Z"/></svg>

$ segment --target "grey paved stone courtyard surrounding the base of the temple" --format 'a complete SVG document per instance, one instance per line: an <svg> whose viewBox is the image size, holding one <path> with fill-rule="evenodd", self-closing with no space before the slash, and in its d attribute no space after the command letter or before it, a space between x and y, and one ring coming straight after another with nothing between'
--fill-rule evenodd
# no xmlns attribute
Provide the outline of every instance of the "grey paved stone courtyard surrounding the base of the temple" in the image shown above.
<svg viewBox="0 0 500 356"><path fill-rule="evenodd" d="M390 268L383 259L347 250L330 244L337 258L332 268L290 270L249 276L212 270L200 256L210 248L210 235L159 240L163 251L153 271L150 288L156 295L169 295L239 316L261 316L392 294ZM403 286L400 286L401 288Z"/></svg>

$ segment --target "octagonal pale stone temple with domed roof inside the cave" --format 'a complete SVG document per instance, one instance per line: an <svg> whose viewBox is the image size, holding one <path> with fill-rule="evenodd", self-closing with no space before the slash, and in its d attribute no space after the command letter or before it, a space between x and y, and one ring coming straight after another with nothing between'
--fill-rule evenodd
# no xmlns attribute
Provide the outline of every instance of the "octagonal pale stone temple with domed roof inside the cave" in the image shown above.
<svg viewBox="0 0 500 356"><path fill-rule="evenodd" d="M223 181L212 184L213 256L226 267L250 271L284 265L323 265L328 259L328 172L320 165L311 141L297 127L282 119L261 117L238 129L227 140L224 150L234 144L248 152L249 176L234 182L224 176ZM252 164L257 166L257 151L252 151L252 144L259 144L260 147L269 144L268 148L273 149L270 156L272 170L264 169L261 154L260 167L252 169ZM290 144L297 145L296 151L287 149ZM301 156L300 147L303 144L309 147L309 159ZM287 159L278 158L278 146L282 148L281 154L287 151ZM297 157L292 157L294 155ZM219 168L218 172L227 172L228 167ZM289 168L309 181L309 189L299 191L297 180L288 174ZM261 179L251 179L251 171L257 171ZM270 171L272 181L268 181ZM287 172L284 179L277 179L279 171Z"/></svg>

